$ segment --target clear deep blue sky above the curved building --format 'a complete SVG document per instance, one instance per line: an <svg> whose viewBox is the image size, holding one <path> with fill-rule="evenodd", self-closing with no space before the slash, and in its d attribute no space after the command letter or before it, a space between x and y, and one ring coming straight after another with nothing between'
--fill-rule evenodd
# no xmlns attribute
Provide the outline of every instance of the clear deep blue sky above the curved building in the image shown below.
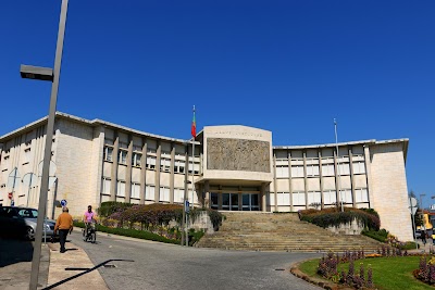
<svg viewBox="0 0 435 290"><path fill-rule="evenodd" d="M0 5L0 135L48 115L61 0ZM435 1L70 0L58 111L189 139L275 146L409 138L408 189L435 196ZM394 202L394 201L391 201ZM435 201L434 201L435 203Z"/></svg>

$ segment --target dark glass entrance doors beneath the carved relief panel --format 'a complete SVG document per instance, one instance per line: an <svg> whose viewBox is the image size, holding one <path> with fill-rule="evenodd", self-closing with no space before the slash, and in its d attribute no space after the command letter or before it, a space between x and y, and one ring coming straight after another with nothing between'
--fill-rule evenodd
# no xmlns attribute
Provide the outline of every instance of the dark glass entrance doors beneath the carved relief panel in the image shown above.
<svg viewBox="0 0 435 290"><path fill-rule="evenodd" d="M222 196L221 201L219 199L220 194ZM222 211L260 211L259 196L259 193L210 192L211 209Z"/></svg>

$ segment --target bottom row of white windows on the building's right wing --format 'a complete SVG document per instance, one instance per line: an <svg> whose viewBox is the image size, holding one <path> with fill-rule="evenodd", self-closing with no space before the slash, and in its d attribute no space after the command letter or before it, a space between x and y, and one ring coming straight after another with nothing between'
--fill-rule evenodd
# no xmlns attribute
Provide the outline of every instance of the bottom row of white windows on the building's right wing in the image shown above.
<svg viewBox="0 0 435 290"><path fill-rule="evenodd" d="M337 191L327 190L323 191L323 204L331 205L337 202L337 200L344 203L353 203L352 191L350 189L340 190L340 197L337 198ZM275 205L275 198L273 192L270 193L270 204ZM310 205L312 203L321 203L322 202L322 193L320 191L297 191L297 192L277 192L277 204L276 205L290 205L290 199L293 201L293 205ZM307 199L307 203L306 203ZM366 188L359 188L355 190L355 202L356 203L364 203L369 202L369 192Z"/></svg>

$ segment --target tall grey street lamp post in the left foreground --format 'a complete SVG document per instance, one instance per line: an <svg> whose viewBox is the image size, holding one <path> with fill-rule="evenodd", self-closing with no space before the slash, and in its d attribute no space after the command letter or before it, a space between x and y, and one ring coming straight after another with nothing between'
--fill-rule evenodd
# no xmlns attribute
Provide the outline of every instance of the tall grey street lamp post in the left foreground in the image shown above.
<svg viewBox="0 0 435 290"><path fill-rule="evenodd" d="M44 151L44 164L42 164L42 177L41 187L39 193L39 206L38 206L38 219L35 232L35 245L34 255L32 260L32 274L29 289L36 290L38 286L38 274L41 254L41 243L42 243L42 226L44 219L46 217L46 203L48 194L48 182L49 182L49 168L51 160L51 144L53 139L54 130L54 117L55 108L58 101L58 90L59 90L59 78L61 74L61 63L62 63L62 51L63 51L63 38L65 35L65 23L66 23L66 11L67 11L69 0L62 0L61 14L59 20L59 31L58 31L58 42L55 47L54 56L54 71L47 67L36 67L22 65L21 75L23 78L32 78L39 80L49 80L51 84L51 97L50 97L50 109L47 121L47 134L46 134L46 146Z"/></svg>

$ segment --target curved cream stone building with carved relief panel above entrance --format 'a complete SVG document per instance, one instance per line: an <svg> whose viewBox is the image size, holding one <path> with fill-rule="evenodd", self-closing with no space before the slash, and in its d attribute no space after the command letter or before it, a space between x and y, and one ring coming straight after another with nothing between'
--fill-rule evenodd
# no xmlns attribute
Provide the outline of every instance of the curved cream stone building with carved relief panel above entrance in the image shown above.
<svg viewBox="0 0 435 290"><path fill-rule="evenodd" d="M38 206L46 126L47 117L0 137L3 205ZM207 126L196 137L192 159L192 140L58 112L52 142L49 217L59 213L60 200L74 216L104 201L188 199L196 206L258 212L343 202L376 210L382 228L412 240L408 139L340 142L337 154L335 143L274 147L268 130Z"/></svg>

